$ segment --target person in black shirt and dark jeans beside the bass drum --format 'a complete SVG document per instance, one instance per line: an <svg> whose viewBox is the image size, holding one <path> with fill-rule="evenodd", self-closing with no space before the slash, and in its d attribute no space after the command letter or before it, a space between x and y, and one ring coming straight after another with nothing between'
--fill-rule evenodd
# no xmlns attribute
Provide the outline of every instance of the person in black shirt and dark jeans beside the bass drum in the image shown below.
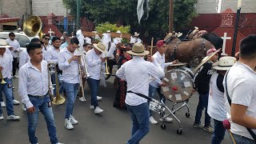
<svg viewBox="0 0 256 144"><path fill-rule="evenodd" d="M215 48L207 51L207 56L213 54L216 51ZM210 77L213 74L214 70L212 65L214 62L217 62L218 54L215 54L208 62L200 67L196 74L194 74L194 89L198 91L199 102L198 108L195 115L194 127L203 128L210 133L214 131L213 127L210 126L210 116L207 114L208 98L209 98L209 83ZM205 125L201 124L202 110L205 110Z"/></svg>

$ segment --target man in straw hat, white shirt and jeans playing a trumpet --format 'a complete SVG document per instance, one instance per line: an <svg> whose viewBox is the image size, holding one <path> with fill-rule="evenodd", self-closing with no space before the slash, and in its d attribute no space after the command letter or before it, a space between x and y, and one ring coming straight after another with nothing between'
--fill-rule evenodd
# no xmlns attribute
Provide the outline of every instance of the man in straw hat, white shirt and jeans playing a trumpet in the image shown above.
<svg viewBox="0 0 256 144"><path fill-rule="evenodd" d="M94 110L94 114L100 114L103 112L98 106L97 95L98 87L101 77L102 62L105 62L105 58L102 58L102 53L105 52L106 46L102 42L94 44L94 49L89 50L86 54L86 62L88 73L90 77L86 79L91 94L90 109Z"/></svg>

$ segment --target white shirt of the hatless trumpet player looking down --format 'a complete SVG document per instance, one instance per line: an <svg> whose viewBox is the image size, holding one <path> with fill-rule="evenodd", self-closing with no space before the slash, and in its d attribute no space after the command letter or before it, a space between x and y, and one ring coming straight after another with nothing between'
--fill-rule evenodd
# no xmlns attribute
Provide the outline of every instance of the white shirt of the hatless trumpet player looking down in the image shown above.
<svg viewBox="0 0 256 144"><path fill-rule="evenodd" d="M68 62L73 55L67 48L62 49L58 54L58 69L62 70L63 81L67 83L79 83L78 62Z"/></svg>

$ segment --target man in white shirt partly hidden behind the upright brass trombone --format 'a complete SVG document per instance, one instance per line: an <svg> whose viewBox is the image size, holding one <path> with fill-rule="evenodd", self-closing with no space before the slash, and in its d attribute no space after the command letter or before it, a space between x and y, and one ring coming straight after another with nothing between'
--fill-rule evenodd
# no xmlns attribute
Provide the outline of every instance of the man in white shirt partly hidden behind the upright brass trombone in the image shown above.
<svg viewBox="0 0 256 144"><path fill-rule="evenodd" d="M58 73L58 85L61 85L61 81L60 81L60 76L62 75L62 71L58 70L58 54L60 52L60 47L61 46L61 39L58 37L54 37L52 40L52 46L46 50L45 53L45 60L46 62L50 63L50 62L54 62L57 66L57 73ZM52 83L56 84L55 81L55 74L51 74L51 78L52 78ZM62 79L61 79L62 80ZM62 94L63 92L63 87L59 86L59 94ZM56 96L56 85L54 85L54 96Z"/></svg>

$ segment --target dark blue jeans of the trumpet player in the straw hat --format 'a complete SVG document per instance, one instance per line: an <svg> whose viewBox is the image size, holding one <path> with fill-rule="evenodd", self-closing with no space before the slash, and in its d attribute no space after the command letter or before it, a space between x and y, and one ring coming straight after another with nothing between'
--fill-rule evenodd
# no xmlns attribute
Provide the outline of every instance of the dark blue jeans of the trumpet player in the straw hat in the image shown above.
<svg viewBox="0 0 256 144"><path fill-rule="evenodd" d="M98 106L97 95L98 95L99 80L95 80L93 78L87 78L86 81L90 88L90 94L91 94L90 105L96 107Z"/></svg>

